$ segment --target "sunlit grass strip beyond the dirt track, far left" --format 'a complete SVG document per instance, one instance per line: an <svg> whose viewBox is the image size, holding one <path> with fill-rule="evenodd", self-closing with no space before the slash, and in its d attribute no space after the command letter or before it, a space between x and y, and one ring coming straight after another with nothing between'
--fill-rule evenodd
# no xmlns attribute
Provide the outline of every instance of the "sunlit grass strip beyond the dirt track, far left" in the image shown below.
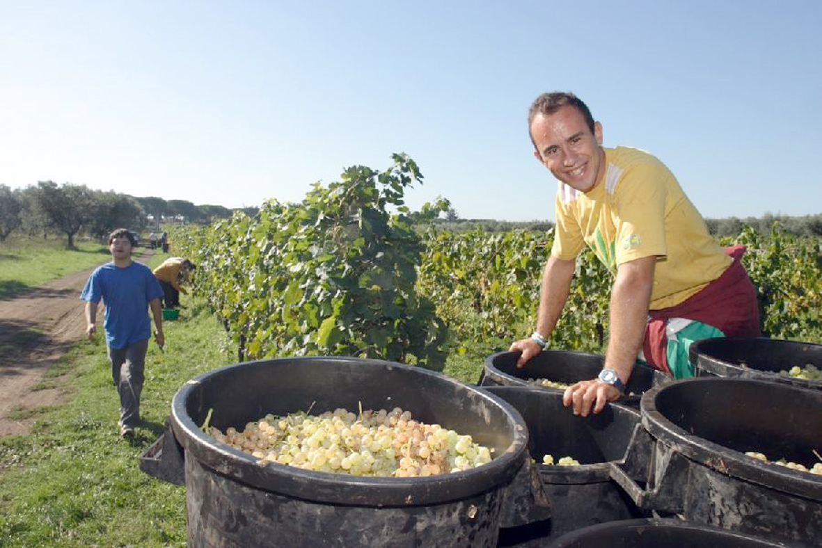
<svg viewBox="0 0 822 548"><path fill-rule="evenodd" d="M0 243L0 300L106 260L109 249L99 242L78 242L76 250L67 250L62 238L10 237Z"/></svg>

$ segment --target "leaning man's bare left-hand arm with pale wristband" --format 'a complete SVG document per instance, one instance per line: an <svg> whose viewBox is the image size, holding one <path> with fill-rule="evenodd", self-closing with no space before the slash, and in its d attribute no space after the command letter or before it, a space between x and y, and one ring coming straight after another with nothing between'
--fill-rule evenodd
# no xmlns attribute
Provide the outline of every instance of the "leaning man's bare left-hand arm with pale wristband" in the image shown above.
<svg viewBox="0 0 822 548"><path fill-rule="evenodd" d="M539 310L537 312L537 333L545 340L551 334L559 320L562 308L568 300L570 280L574 277L575 260L561 260L555 256L548 257L543 271L543 284L539 294ZM522 356L517 360L517 366L522 367L532 357L542 351L542 348L533 338L523 338L511 344L510 350L521 350Z"/></svg>

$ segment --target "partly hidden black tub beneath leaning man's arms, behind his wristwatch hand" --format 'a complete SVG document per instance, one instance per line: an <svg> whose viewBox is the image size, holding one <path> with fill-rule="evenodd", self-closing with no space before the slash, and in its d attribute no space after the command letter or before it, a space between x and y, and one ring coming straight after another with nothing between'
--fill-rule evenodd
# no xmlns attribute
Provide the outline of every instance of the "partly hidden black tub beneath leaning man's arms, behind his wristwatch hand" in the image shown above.
<svg viewBox="0 0 822 548"><path fill-rule="evenodd" d="M516 361L521 354L522 352L515 350L497 352L487 357L479 385L534 386L528 382L529 379L547 379L573 385L580 380L595 379L599 375L599 371L602 371L605 362L605 357L602 354L570 350L543 350L519 369L516 366ZM640 399L645 391L652 386L664 385L670 381L671 378L662 371L636 364L630 379L626 383L625 395L619 399L619 403L639 409ZM562 392L560 389L539 388Z"/></svg>

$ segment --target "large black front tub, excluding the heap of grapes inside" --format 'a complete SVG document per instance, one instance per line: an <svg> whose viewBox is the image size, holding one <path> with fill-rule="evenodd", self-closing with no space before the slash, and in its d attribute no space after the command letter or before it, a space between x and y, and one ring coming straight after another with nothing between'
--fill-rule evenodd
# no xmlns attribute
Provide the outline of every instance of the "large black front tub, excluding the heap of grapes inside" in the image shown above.
<svg viewBox="0 0 822 548"><path fill-rule="evenodd" d="M472 435L495 457L434 477L353 477L260 466L200 429L210 409L210 425L225 431L266 413L360 405L403 408ZM501 502L528 443L520 414L492 394L422 368L344 357L252 361L200 375L175 394L171 425L184 450L189 546L496 546Z"/></svg>

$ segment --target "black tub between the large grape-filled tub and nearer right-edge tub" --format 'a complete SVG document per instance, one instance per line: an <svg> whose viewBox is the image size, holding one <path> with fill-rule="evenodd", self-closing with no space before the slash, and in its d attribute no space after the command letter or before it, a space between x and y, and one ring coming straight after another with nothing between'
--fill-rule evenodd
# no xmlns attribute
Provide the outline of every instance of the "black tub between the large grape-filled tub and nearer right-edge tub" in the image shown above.
<svg viewBox="0 0 822 548"><path fill-rule="evenodd" d="M640 413L620 404L589 417L575 416L562 405L562 394L534 386L486 386L520 412L529 429L529 454L536 460L552 516L520 527L503 527L499 546L539 546L546 538L616 519L646 515L611 479L609 463L630 467L627 450L635 435L647 435ZM570 456L580 466L548 466Z"/></svg>

